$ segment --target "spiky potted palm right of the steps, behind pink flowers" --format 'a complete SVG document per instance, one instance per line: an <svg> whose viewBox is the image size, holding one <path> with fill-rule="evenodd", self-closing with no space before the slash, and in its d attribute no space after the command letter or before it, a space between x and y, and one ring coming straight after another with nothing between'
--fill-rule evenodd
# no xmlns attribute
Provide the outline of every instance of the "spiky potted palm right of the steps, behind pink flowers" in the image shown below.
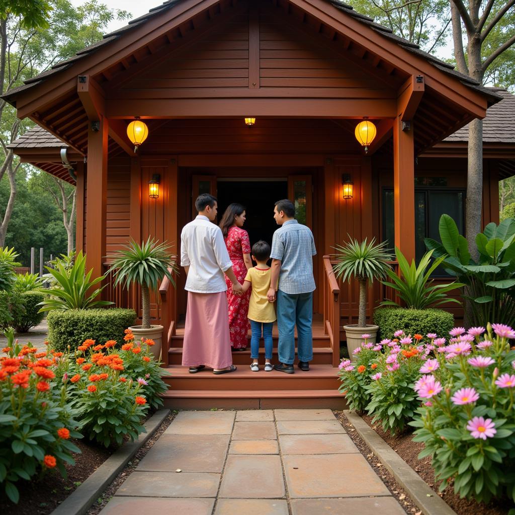
<svg viewBox="0 0 515 515"><path fill-rule="evenodd" d="M345 245L336 248L334 273L337 278L346 281L351 276L359 283L359 316L357 324L344 325L349 355L353 357L353 351L362 344L364 335L367 340L375 342L379 327L367 324L367 283L374 279L384 279L387 270L390 269L391 255L386 250L388 242L376 244L375 238L367 242L357 239L349 239Z"/></svg>

